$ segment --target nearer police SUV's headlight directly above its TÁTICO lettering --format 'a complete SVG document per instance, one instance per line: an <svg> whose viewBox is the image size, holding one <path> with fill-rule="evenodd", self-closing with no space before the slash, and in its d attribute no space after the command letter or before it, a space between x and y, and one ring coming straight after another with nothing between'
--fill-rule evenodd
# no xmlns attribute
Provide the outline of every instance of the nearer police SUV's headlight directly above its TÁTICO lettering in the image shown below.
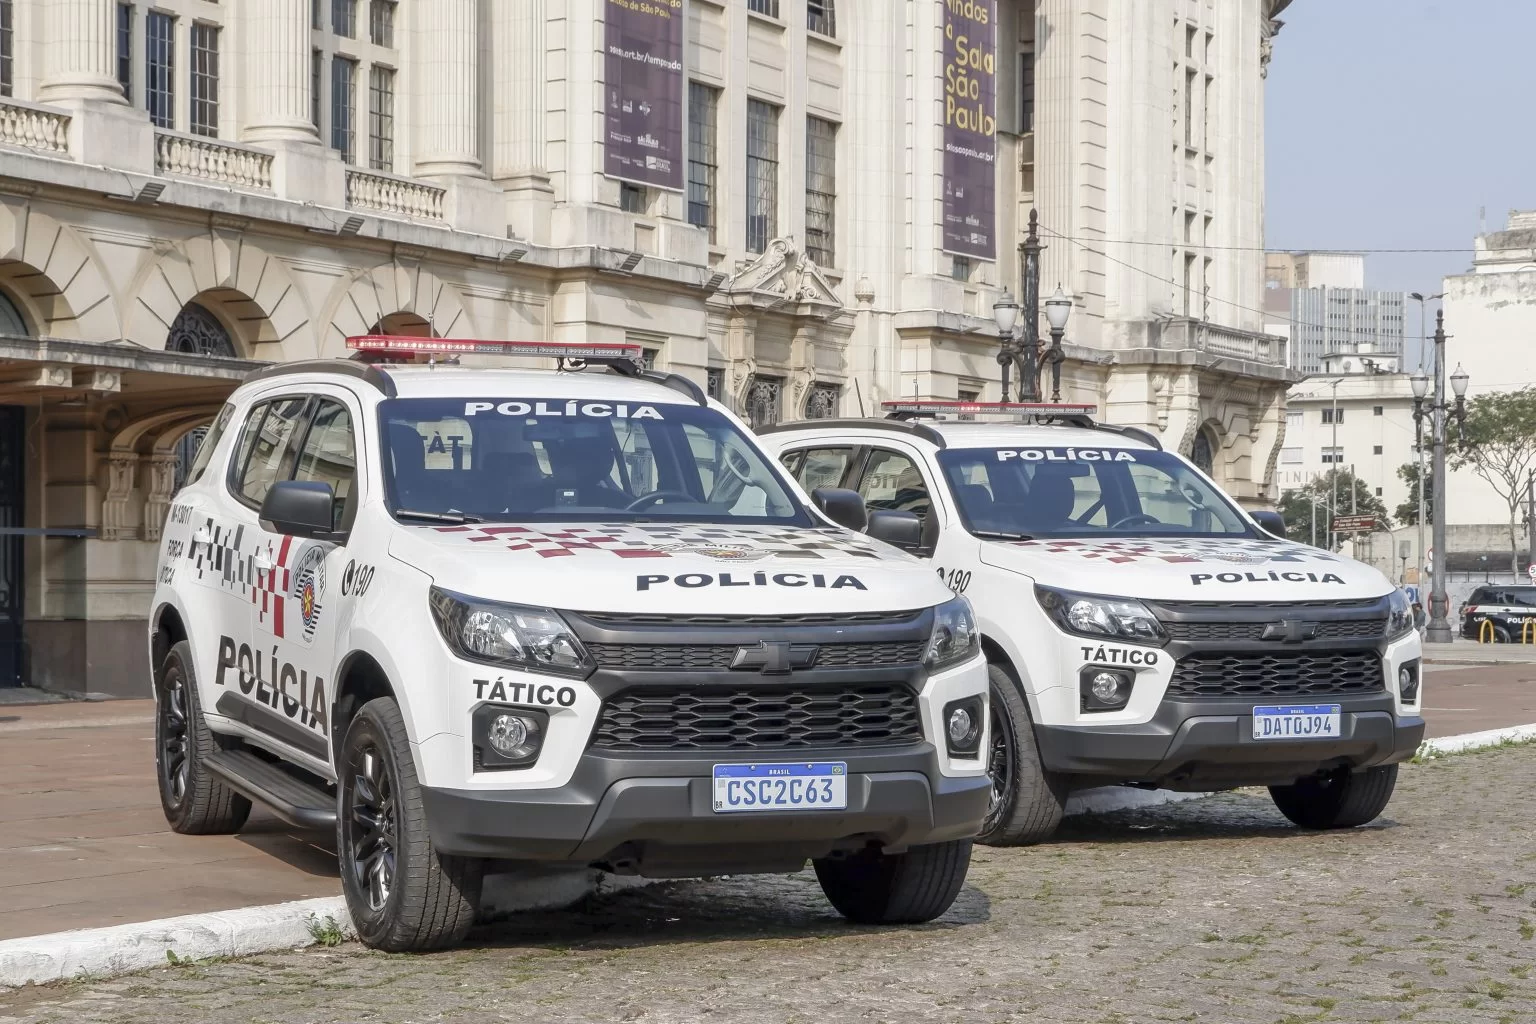
<svg viewBox="0 0 1536 1024"><path fill-rule="evenodd" d="M591 659L565 620L548 608L496 605L432 588L432 617L462 659L585 679Z"/></svg>

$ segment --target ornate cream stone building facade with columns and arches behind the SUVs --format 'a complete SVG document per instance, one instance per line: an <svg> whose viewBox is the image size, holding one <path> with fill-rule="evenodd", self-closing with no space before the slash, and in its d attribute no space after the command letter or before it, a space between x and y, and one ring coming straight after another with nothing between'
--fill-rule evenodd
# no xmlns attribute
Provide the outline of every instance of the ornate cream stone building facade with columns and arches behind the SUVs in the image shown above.
<svg viewBox="0 0 1536 1024"><path fill-rule="evenodd" d="M995 259L943 243L952 0L691 0L677 192L604 173L608 3L0 0L0 683L143 688L180 467L260 362L630 341L759 425L995 399L1031 209L1063 399L1273 496L1289 0L972 5Z"/></svg>

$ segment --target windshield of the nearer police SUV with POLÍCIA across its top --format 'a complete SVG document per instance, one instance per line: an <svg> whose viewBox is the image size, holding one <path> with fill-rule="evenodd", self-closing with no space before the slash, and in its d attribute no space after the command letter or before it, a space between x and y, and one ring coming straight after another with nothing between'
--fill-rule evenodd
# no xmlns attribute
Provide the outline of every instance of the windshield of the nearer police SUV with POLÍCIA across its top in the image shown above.
<svg viewBox="0 0 1536 1024"><path fill-rule="evenodd" d="M757 447L697 405L392 399L379 422L399 519L813 525Z"/></svg>

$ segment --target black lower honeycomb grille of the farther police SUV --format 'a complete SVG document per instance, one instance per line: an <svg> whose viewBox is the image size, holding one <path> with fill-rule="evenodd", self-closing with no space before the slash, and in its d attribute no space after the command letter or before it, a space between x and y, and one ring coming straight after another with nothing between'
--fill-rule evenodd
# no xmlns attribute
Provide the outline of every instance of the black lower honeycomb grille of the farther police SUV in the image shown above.
<svg viewBox="0 0 1536 1024"><path fill-rule="evenodd" d="M1190 654L1178 660L1169 697L1336 697L1382 689L1375 651Z"/></svg>

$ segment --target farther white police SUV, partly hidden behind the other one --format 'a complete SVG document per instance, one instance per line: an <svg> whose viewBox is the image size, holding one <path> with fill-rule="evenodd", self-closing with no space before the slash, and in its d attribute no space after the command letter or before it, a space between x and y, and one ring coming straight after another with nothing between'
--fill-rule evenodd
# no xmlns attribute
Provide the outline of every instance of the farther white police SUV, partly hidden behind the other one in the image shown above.
<svg viewBox="0 0 1536 1024"><path fill-rule="evenodd" d="M1263 785L1306 827L1381 814L1424 735L1419 637L1381 573L1279 539L1275 513L1244 513L1092 407L888 408L765 444L806 488L905 513L869 533L975 603L992 674L982 841L1041 840L1071 791L1104 785Z"/></svg>

